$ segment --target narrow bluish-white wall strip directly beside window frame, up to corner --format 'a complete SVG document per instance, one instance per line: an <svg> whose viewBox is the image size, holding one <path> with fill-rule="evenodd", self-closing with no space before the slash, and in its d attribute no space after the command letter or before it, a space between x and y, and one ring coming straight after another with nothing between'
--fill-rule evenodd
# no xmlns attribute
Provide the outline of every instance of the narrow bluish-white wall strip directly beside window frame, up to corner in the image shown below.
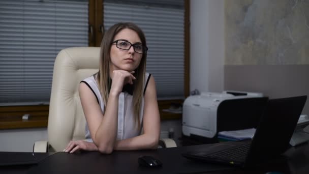
<svg viewBox="0 0 309 174"><path fill-rule="evenodd" d="M208 91L209 1L190 1L190 91Z"/></svg>

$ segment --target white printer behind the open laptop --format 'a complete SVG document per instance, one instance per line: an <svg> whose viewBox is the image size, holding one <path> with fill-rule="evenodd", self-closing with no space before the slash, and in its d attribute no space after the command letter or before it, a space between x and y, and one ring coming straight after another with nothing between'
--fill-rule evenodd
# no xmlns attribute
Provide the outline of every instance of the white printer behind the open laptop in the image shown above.
<svg viewBox="0 0 309 174"><path fill-rule="evenodd" d="M182 133L213 138L217 133L217 109L224 100L263 97L262 93L224 91L189 96L183 102Z"/></svg>

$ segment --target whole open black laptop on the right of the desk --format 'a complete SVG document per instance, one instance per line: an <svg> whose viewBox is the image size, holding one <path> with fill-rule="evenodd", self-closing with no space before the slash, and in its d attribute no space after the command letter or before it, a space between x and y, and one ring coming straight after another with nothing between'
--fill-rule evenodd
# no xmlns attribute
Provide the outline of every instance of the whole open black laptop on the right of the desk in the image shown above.
<svg viewBox="0 0 309 174"><path fill-rule="evenodd" d="M204 150L182 156L214 163L249 167L269 161L289 148L307 96L268 100L264 114L251 141L210 144Z"/></svg>

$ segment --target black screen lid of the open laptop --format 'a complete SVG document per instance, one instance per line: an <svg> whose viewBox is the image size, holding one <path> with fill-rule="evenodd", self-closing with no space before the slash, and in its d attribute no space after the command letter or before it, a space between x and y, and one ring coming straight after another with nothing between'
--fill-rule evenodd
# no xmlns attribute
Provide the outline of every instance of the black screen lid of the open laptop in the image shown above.
<svg viewBox="0 0 309 174"><path fill-rule="evenodd" d="M255 162L285 152L290 144L306 96L271 99L251 143L248 159Z"/></svg>

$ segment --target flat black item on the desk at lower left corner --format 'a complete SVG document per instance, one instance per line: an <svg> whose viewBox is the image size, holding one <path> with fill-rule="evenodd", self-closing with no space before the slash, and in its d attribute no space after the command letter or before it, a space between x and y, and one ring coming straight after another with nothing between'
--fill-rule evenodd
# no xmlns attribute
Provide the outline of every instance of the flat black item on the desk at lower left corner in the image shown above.
<svg viewBox="0 0 309 174"><path fill-rule="evenodd" d="M48 153L0 152L0 167L37 164L46 157L48 157Z"/></svg>

